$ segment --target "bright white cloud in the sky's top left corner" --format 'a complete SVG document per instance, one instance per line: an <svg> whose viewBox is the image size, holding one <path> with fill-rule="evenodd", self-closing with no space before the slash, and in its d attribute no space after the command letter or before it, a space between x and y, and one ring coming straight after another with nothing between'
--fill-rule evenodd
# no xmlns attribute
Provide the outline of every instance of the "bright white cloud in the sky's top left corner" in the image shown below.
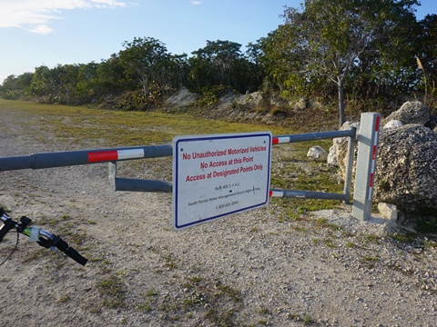
<svg viewBox="0 0 437 327"><path fill-rule="evenodd" d="M0 28L22 27L48 34L53 32L50 22L59 19L63 10L126 6L117 0L0 0Z"/></svg>

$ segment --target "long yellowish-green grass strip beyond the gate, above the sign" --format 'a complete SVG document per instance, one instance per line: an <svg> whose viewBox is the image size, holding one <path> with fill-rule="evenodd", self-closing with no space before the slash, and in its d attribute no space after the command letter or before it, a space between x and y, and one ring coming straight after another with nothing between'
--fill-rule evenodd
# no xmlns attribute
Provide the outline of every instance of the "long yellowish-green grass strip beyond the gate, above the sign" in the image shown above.
<svg viewBox="0 0 437 327"><path fill-rule="evenodd" d="M31 131L54 134L69 144L83 145L87 140L102 146L168 144L177 135L242 133L271 130L288 134L285 128L262 124L227 123L190 114L162 112L122 112L56 104L36 104L0 99L1 110L35 114L37 124Z"/></svg>

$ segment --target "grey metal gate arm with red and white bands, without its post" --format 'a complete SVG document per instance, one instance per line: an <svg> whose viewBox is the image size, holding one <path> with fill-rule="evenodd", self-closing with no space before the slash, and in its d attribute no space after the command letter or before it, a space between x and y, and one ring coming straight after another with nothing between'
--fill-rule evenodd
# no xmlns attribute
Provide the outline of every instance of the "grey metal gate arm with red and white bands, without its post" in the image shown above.
<svg viewBox="0 0 437 327"><path fill-rule="evenodd" d="M272 144L298 143L323 139L333 139L337 137L350 137L350 142L348 163L346 169L346 181L342 194L272 189L270 190L270 196L283 198L340 200L345 203L349 203L349 199L351 196L351 168L353 161L355 134L356 129L351 128L350 130L344 131L290 134L273 137ZM30 154L22 156L0 157L0 171L19 169L44 169L90 163L109 163L109 183L113 187L114 191L171 193L171 182L118 178L117 162L166 157L171 156L172 154L173 147L170 144Z"/></svg>

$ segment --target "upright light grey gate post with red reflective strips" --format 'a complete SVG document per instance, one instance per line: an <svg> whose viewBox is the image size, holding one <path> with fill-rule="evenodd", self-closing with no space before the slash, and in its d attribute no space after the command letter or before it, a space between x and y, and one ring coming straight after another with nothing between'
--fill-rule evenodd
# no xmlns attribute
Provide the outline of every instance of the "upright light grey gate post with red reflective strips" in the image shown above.
<svg viewBox="0 0 437 327"><path fill-rule="evenodd" d="M371 218L371 197L375 180L381 114L361 114L352 217L361 221Z"/></svg>

